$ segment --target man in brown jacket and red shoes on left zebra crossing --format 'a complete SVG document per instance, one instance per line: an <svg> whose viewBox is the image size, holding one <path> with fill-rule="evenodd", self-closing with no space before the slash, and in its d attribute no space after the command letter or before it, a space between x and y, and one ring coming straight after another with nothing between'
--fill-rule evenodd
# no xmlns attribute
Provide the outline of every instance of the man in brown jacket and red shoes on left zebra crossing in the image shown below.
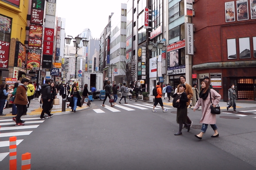
<svg viewBox="0 0 256 170"><path fill-rule="evenodd" d="M25 121L21 120L22 115L26 115L28 108L28 98L27 98L27 85L29 83L28 79L22 79L16 90L16 97L14 99L14 104L17 106L17 116L13 117L12 120L16 122L15 126L23 126Z"/></svg>

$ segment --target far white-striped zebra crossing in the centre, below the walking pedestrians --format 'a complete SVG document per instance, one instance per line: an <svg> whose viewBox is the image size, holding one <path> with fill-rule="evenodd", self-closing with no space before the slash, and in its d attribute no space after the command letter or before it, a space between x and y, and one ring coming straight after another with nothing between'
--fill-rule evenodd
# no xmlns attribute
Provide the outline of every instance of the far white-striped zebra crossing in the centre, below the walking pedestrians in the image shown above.
<svg viewBox="0 0 256 170"><path fill-rule="evenodd" d="M101 105L102 106L102 105ZM153 109L153 104L148 104L148 103L134 103L134 104L116 104L114 107L110 107L105 105L105 107L102 107L101 109L93 109L94 112L96 113L106 113L108 111L111 112L122 112L124 110L126 111L135 111L135 110L150 110ZM165 109L173 109L170 107L164 107ZM155 110L162 110L161 106L156 106Z"/></svg>

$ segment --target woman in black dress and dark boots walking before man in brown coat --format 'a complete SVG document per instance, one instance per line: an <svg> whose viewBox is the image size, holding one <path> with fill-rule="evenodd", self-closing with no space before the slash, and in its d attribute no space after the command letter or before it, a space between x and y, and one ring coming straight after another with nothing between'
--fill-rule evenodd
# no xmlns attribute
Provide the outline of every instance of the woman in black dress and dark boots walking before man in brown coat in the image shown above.
<svg viewBox="0 0 256 170"><path fill-rule="evenodd" d="M188 96L185 92L186 90L186 85L181 84L179 87L179 93L176 93L173 95L173 97L176 97L177 95L180 95L180 99L177 100L178 103L180 103L180 107L177 108L177 117L176 117L176 122L180 125L179 126L179 132L175 133L174 135L182 135L182 127L183 124L188 127L188 132L190 131L190 126L189 124L186 123L187 121L187 115L188 115Z"/></svg>

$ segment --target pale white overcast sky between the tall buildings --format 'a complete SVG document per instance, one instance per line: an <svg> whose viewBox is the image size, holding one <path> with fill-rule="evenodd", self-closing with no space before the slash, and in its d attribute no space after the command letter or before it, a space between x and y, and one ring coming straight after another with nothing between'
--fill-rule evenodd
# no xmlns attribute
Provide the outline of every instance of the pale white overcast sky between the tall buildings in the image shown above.
<svg viewBox="0 0 256 170"><path fill-rule="evenodd" d="M57 15L66 19L66 35L75 37L84 28L89 28L93 38L108 23L111 12L121 10L121 3L127 0L57 0Z"/></svg>

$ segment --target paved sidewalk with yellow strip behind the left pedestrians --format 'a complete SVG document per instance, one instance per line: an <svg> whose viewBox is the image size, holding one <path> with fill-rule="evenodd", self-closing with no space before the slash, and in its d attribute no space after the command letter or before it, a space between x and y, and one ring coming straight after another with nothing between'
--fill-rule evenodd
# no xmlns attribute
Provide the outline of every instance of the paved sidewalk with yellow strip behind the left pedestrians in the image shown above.
<svg viewBox="0 0 256 170"><path fill-rule="evenodd" d="M69 102L66 102L66 112L62 112L62 97L58 94L57 98L60 99L60 105L53 105L51 114L70 112L71 108L70 107L67 108L67 104ZM90 108L90 107L87 107L86 103L84 103L82 105L82 107L77 107L76 111L85 110L85 109L88 109L88 108ZM27 111L27 116L41 115L42 110L43 109L40 108L40 103L38 101L38 98L35 98L35 100L30 101L30 105L29 105L29 108L28 108L28 111ZM10 113L11 111L12 111L12 105L9 105L9 108L5 108L3 110L3 114L6 114L6 116L1 116L0 118L13 117L14 115L12 115L12 113Z"/></svg>

